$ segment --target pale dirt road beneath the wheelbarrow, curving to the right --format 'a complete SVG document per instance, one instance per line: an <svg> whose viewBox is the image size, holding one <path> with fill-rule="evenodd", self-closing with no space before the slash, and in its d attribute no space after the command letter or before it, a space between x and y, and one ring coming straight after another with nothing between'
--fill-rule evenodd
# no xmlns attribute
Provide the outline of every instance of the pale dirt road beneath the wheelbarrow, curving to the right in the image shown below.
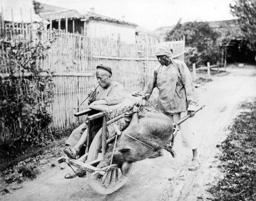
<svg viewBox="0 0 256 201"><path fill-rule="evenodd" d="M98 195L91 190L86 178L64 179L66 170L52 168L37 179L26 181L23 188L7 194L3 200L88 200L88 201L153 201L153 200L206 200L210 185L222 177L216 145L228 134L227 127L238 114L239 103L256 95L256 66L228 68L226 76L212 76L213 82L197 89L201 104L206 107L197 113L198 132L203 134L199 148L201 166L188 171L192 151L181 147L176 138L172 158L168 152L163 157L138 162L129 181L111 195Z"/></svg>

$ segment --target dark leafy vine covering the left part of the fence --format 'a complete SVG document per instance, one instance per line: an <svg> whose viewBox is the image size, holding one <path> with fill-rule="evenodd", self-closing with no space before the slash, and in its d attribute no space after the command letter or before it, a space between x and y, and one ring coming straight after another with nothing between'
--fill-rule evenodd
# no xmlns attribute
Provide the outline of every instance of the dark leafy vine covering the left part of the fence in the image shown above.
<svg viewBox="0 0 256 201"><path fill-rule="evenodd" d="M5 128L23 142L42 146L53 138L48 127L52 116L47 107L53 101L55 87L53 72L43 70L42 60L58 38L54 30L52 39L43 42L40 40L43 31L41 23L35 41L26 40L23 35L18 35L15 41L2 39L2 56L6 62L1 63L4 66L0 71L1 129ZM3 135L1 137L4 141Z"/></svg>

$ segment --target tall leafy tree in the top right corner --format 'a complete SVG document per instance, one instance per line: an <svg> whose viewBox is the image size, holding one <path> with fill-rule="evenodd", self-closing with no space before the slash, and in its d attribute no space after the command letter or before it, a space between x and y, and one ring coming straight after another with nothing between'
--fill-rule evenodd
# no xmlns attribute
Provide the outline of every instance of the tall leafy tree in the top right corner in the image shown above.
<svg viewBox="0 0 256 201"><path fill-rule="evenodd" d="M256 0L236 0L230 4L233 16L238 17L248 47L256 51Z"/></svg>

